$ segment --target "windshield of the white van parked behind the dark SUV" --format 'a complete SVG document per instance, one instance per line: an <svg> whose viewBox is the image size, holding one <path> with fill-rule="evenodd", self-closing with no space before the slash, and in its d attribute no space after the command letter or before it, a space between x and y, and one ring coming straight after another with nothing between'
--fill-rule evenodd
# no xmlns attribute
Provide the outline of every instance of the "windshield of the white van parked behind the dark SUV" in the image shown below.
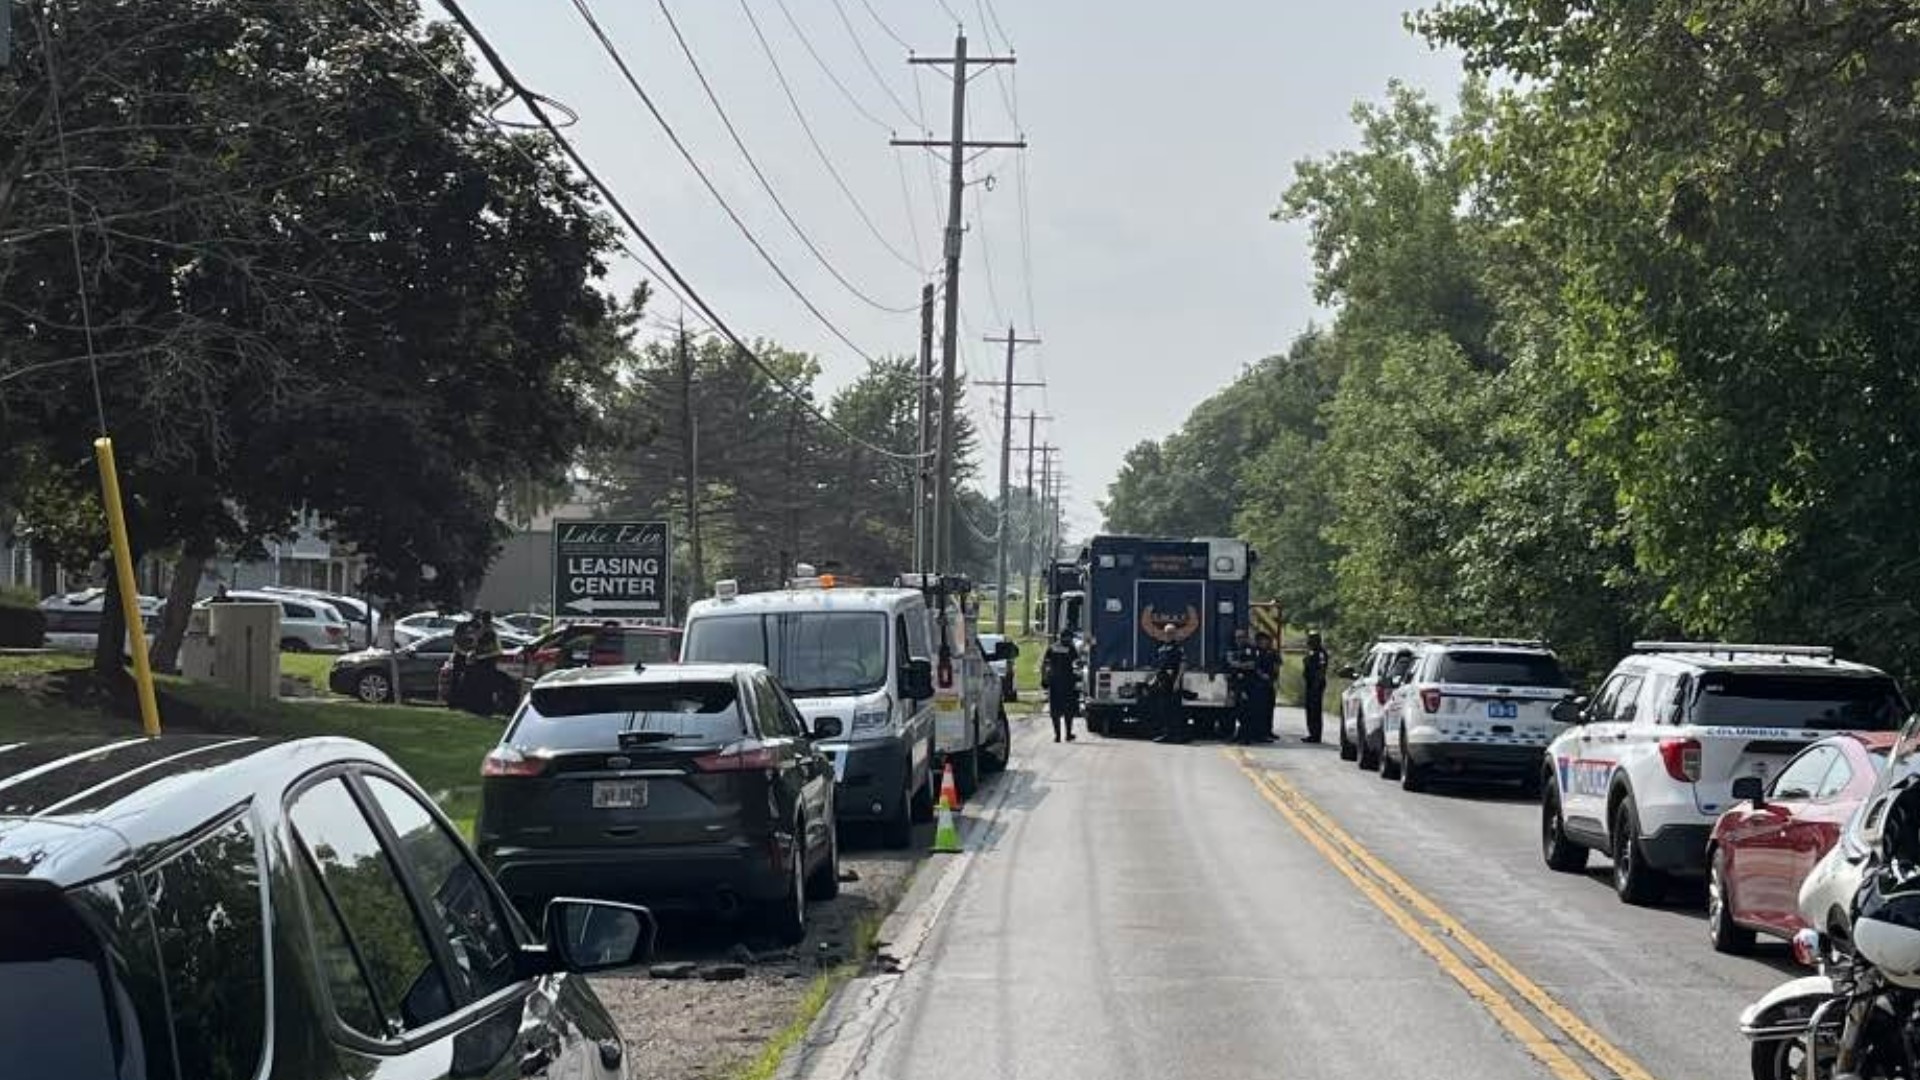
<svg viewBox="0 0 1920 1080"><path fill-rule="evenodd" d="M714 615L687 626L682 659L766 665L795 698L864 694L887 684L887 617L877 611Z"/></svg>

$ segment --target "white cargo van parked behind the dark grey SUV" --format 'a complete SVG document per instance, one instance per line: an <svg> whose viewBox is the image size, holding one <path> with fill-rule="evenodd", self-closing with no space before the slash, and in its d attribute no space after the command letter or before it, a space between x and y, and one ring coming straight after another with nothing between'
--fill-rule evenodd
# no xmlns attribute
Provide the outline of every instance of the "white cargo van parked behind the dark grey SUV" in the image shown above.
<svg viewBox="0 0 1920 1080"><path fill-rule="evenodd" d="M937 646L912 588L801 588L741 594L720 582L687 611L680 659L766 665L806 717L839 721L818 748L833 759L837 819L877 822L891 847L933 817Z"/></svg>

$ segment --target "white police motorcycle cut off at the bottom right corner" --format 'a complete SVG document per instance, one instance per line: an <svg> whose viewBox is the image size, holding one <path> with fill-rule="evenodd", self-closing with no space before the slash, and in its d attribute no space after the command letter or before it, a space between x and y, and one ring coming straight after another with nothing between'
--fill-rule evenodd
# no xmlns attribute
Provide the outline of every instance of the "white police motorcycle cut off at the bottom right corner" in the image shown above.
<svg viewBox="0 0 1920 1080"><path fill-rule="evenodd" d="M1920 719L1799 894L1818 974L1740 1017L1753 1080L1920 1080Z"/></svg>

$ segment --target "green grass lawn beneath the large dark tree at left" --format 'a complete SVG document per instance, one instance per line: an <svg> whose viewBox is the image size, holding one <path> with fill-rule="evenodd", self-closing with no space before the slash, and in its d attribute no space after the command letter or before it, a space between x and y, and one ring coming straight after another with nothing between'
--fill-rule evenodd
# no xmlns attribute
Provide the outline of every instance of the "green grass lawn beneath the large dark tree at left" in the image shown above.
<svg viewBox="0 0 1920 1080"><path fill-rule="evenodd" d="M301 657L305 659L305 657ZM324 657L321 657L324 659ZM127 732L140 721L63 692L84 659L0 657L0 738ZM440 707L359 705L340 698L248 705L219 686L157 676L167 732L261 736L336 734L384 749L467 834L480 809L480 759L499 742L499 724Z"/></svg>

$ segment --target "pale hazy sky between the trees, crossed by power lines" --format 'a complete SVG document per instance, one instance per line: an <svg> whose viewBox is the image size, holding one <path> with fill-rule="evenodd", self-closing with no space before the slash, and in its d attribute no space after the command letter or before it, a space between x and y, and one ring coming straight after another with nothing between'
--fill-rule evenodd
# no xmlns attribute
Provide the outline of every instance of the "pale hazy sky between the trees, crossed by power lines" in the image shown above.
<svg viewBox="0 0 1920 1080"><path fill-rule="evenodd" d="M1292 165L1352 146L1352 106L1380 98L1390 79L1442 100L1459 85L1457 58L1404 29L1405 0L588 6L745 229L570 2L468 0L467 12L528 86L578 113L570 136L582 156L722 319L814 354L828 390L858 377L862 352L918 354L920 286L937 281L945 160L889 140L947 136L950 69L910 65L900 42L945 58L964 27L970 56L1018 60L977 67L968 85L972 136L1025 136L1029 146L985 150L968 165L960 377L1004 377L1004 344L987 334L1012 327L1041 338L1016 356L1016 380L1044 379L1046 388L1016 390L1014 446L1027 444L1027 411L1052 417L1037 429L1062 448L1068 536L1098 528L1096 502L1133 444L1177 430L1244 365L1327 321L1311 296L1306 229L1269 219ZM662 6L766 186L701 90ZM612 286L645 277L622 259ZM657 317L678 311L659 294ZM1000 402L996 388L970 394L989 494ZM1016 452L1014 484L1023 480L1025 454Z"/></svg>

